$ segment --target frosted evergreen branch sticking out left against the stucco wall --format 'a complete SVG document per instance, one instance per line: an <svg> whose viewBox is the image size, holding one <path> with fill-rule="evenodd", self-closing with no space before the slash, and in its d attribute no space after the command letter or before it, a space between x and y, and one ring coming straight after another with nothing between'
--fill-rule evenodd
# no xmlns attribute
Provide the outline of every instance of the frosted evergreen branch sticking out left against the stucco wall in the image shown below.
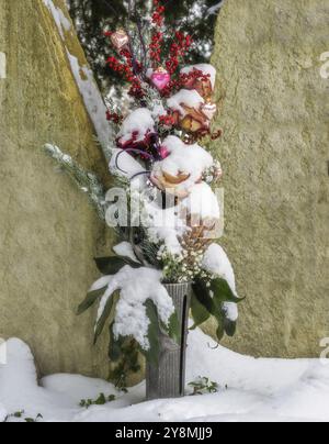
<svg viewBox="0 0 329 444"><path fill-rule="evenodd" d="M93 173L87 171L68 154L64 154L58 146L46 144L45 152L69 175L79 189L87 193L101 220L105 220L104 188Z"/></svg>

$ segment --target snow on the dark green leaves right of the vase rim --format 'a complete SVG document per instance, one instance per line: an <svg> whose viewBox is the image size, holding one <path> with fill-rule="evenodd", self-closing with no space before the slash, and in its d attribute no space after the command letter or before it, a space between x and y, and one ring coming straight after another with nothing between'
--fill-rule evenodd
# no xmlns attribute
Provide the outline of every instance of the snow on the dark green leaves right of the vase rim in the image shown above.
<svg viewBox="0 0 329 444"><path fill-rule="evenodd" d="M203 258L203 268L213 275L225 279L232 292L238 297L234 268L220 245L212 244L207 248ZM225 302L223 308L230 321L236 322L238 320L239 311L236 303Z"/></svg>

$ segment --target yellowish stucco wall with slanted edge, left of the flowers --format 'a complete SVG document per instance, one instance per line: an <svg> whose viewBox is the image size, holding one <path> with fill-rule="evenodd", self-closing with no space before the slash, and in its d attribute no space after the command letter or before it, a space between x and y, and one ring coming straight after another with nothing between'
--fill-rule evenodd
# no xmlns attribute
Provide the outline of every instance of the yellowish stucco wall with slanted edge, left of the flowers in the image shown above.
<svg viewBox="0 0 329 444"><path fill-rule="evenodd" d="M66 45L86 62L73 32ZM104 249L104 226L42 146L54 142L103 177L104 163L42 0L1 0L0 51L0 336L26 341L41 374L106 377L106 338L93 348L94 315L75 314L98 277L92 258Z"/></svg>

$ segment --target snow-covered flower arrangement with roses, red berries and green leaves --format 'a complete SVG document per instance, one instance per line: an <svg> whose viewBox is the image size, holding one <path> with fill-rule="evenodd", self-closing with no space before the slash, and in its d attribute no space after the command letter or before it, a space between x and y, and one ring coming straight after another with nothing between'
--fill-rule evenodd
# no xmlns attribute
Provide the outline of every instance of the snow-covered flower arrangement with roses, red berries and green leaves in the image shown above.
<svg viewBox="0 0 329 444"><path fill-rule="evenodd" d="M128 115L114 107L107 110L109 124L116 129L110 171L126 196L125 221L113 190L103 199L93 175L47 145L121 236L115 256L95 259L102 277L79 314L98 303L95 341L109 324L110 358L122 359L127 351L126 360L135 369L137 349L157 362L159 329L180 340L166 284L192 282L193 328L213 317L218 341L225 333L234 335L241 300L231 265L213 241L220 208L212 186L220 180L222 167L200 145L205 135L215 140L222 134L211 130L217 111L216 70L207 64L184 66L193 38L167 27L164 11L166 1L154 0L154 12L144 23L134 16L131 24L105 32L113 47L109 66L129 84L134 99Z"/></svg>

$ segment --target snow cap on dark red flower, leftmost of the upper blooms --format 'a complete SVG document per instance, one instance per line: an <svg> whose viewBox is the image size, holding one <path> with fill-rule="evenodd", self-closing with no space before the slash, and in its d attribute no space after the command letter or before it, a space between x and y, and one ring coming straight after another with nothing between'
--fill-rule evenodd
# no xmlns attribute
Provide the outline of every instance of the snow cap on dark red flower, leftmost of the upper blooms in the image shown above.
<svg viewBox="0 0 329 444"><path fill-rule="evenodd" d="M127 142L144 142L149 134L155 133L155 121L146 108L133 111L124 121L118 133L118 143L124 146Z"/></svg>

